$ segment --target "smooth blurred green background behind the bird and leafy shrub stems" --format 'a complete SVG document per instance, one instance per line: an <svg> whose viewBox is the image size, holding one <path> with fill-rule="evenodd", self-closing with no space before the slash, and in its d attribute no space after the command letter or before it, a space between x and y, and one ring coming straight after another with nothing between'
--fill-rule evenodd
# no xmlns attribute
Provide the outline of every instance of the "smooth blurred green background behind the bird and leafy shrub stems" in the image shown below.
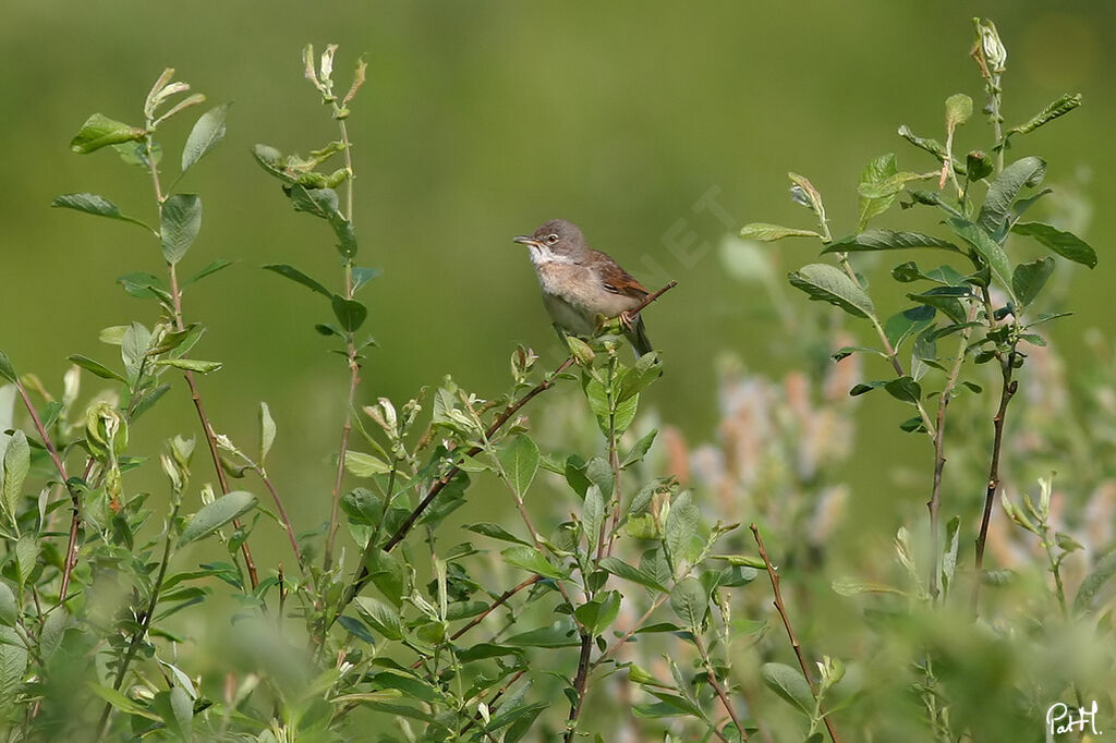
<svg viewBox="0 0 1116 743"><path fill-rule="evenodd" d="M151 218L142 172L110 151L78 156L67 144L94 112L140 123L151 84L175 67L210 104L235 102L227 139L181 186L205 204L184 271L239 261L185 299L187 319L210 327L194 355L225 363L203 380L203 394L217 428L246 442L254 441L258 401L271 405L280 431L272 474L297 523L323 518L346 374L311 329L329 319L328 308L257 267L292 263L337 286L337 253L319 221L292 213L249 148L262 142L306 154L336 137L302 79L300 50L337 42L341 89L358 55L369 64L350 119L355 221L359 263L384 270L362 297L381 345L364 370L362 399L402 403L444 374L494 396L508 387L518 342L552 366L555 336L533 272L510 240L564 216L648 287L679 280L646 315L668 373L645 404L691 442L710 440L714 359L740 355L777 376L805 363L779 337L763 287L725 273L721 243L750 221L814 226L788 199L788 170L827 196L835 234L853 228L857 175L870 157L894 151L901 170L931 170L895 131L907 124L943 138L949 95L983 102L968 58L974 15L994 19L1009 48L1009 125L1061 93L1084 94L1080 112L1012 153L1046 157L1050 185L1096 205L1083 234L1100 267L1058 264L1059 274L1076 271L1070 303L1079 311L1049 331L1074 359L1086 329L1109 330L1114 318L1103 239L1116 226L1116 213L1104 209L1114 197L1104 174L1116 170L1114 2L114 2L81 10L8 2L0 347L60 389L67 355L115 360L116 349L97 341L100 328L153 322L150 303L114 286L129 271L162 272L150 235L49 204L59 193L90 191ZM172 175L200 110L161 129ZM975 116L956 149L987 142ZM723 212L696 208L703 196ZM933 229L930 214L916 219ZM808 241L769 252L780 277L816 253ZM893 302L891 311L898 295L883 287L884 269L901 260L873 272L877 301ZM869 366L868 376L883 368ZM86 377L86 393L89 385ZM134 434L147 437L151 452L162 437L195 430L184 389L161 408ZM927 452L896 435L893 401L867 399L858 415L859 459L848 473L854 512L892 523L896 512L921 508L925 479L905 493L893 470L863 465L922 467Z"/></svg>

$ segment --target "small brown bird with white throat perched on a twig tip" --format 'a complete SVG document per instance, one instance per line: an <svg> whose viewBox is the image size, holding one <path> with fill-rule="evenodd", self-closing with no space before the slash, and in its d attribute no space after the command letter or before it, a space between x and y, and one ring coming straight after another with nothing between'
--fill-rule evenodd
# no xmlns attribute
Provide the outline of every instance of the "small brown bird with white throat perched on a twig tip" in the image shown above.
<svg viewBox="0 0 1116 743"><path fill-rule="evenodd" d="M643 318L629 315L651 292L609 255L589 248L576 224L550 220L514 242L530 249L542 303L559 327L576 336L591 336L598 315L619 318L636 358L653 350Z"/></svg>

